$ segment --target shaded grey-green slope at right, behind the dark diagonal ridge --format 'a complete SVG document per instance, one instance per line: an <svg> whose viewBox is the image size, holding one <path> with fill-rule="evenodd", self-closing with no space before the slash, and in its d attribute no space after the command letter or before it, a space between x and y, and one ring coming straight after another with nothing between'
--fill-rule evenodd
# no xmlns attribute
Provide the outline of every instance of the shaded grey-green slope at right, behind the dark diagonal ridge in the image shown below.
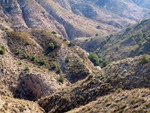
<svg viewBox="0 0 150 113"><path fill-rule="evenodd" d="M108 61L127 57L149 54L150 51L150 20L143 20L134 26L129 26L119 33L106 37L97 36L74 42L87 51L102 53Z"/></svg>

